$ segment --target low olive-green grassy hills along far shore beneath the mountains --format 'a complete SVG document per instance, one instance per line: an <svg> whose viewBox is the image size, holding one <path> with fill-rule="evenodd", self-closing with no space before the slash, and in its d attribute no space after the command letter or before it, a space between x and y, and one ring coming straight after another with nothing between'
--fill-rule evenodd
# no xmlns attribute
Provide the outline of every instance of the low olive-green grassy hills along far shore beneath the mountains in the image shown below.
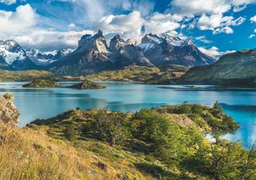
<svg viewBox="0 0 256 180"><path fill-rule="evenodd" d="M58 76L44 70L0 70L0 82L30 82L34 79L51 81L122 81L122 82L146 82L156 84L169 82L178 78L188 70L187 67L171 65L162 68L146 66L127 66L122 70L106 70L98 74L88 74L79 77Z"/></svg>

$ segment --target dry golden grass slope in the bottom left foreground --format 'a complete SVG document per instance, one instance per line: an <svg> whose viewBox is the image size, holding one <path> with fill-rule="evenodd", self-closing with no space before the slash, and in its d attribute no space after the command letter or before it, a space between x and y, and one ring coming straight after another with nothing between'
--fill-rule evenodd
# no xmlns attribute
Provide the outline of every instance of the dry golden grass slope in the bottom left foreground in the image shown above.
<svg viewBox="0 0 256 180"><path fill-rule="evenodd" d="M95 166L99 162L106 168ZM126 158L118 168L113 166L116 168L116 163L109 159L50 138L44 130L0 122L1 180L110 180L118 179L121 172L138 175L137 179L153 179L131 168Z"/></svg>

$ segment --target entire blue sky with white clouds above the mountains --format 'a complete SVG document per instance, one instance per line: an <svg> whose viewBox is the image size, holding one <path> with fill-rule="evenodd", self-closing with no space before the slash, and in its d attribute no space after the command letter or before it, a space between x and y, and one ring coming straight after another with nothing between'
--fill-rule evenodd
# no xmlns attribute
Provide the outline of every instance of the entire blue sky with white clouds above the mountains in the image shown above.
<svg viewBox="0 0 256 180"><path fill-rule="evenodd" d="M217 57L256 48L256 0L0 0L0 39L24 48L75 48L101 29L140 43L148 33L192 38Z"/></svg>

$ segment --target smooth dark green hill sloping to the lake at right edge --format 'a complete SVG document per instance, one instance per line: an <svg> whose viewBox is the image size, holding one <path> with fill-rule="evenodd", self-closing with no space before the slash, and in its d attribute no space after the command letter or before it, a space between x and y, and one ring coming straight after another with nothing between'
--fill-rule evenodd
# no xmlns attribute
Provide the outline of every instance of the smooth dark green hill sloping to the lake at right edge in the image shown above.
<svg viewBox="0 0 256 180"><path fill-rule="evenodd" d="M210 66L191 68L178 83L256 86L256 50L222 56Z"/></svg>

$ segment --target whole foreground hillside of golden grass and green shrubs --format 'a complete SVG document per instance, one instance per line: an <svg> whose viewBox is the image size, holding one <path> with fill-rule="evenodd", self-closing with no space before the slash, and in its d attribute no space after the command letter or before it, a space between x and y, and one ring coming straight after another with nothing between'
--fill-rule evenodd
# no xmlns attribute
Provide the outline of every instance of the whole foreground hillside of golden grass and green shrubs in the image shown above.
<svg viewBox="0 0 256 180"><path fill-rule="evenodd" d="M255 151L218 138L237 128L218 104L77 109L24 128L0 123L0 179L255 179Z"/></svg>

